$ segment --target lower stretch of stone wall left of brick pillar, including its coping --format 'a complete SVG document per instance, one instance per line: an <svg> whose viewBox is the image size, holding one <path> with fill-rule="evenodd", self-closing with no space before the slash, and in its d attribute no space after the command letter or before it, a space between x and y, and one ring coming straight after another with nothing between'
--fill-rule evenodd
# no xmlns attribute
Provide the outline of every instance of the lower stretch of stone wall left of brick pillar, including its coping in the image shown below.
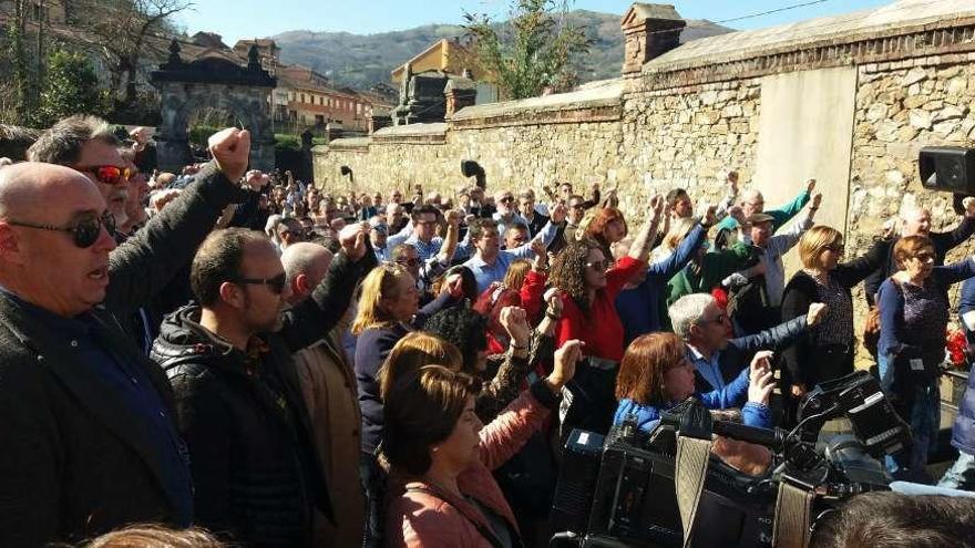
<svg viewBox="0 0 975 548"><path fill-rule="evenodd" d="M337 139L316 148L316 182L347 190L340 167L348 165L360 192L422 184L450 196L470 184L460 162L473 159L488 175L489 192L526 186L541 192L542 185L556 180L625 186L633 172L620 170L620 91L619 82L604 82L542 102L536 110L474 106L450 124L386 127L371 138Z"/></svg>

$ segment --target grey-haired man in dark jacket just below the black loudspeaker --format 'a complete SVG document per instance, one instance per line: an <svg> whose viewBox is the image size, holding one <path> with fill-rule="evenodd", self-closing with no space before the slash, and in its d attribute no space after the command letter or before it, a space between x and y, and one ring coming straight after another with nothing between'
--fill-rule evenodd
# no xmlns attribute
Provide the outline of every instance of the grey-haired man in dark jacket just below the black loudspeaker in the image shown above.
<svg viewBox="0 0 975 548"><path fill-rule="evenodd" d="M910 207L904 211L901 211L901 218L899 219L901 223L901 238L907 236L927 236L931 238L931 242L934 244L934 252L936 255L934 263L937 266L944 265L944 258L948 251L959 246L975 234L975 198L965 198L963 204L965 207L965 216L962 218L962 223L950 232L931 231L931 211L926 208ZM883 266L876 269L873 273L866 277L866 280L863 281L863 289L866 293L866 303L871 307L874 306L874 297L876 296L876 292L880 291L880 286L890 278L891 275L900 270L897 261L894 258L894 245L897 240L899 238L896 237L878 240L870 251L868 251L868 255L871 256L879 254L882 257L886 257Z"/></svg>

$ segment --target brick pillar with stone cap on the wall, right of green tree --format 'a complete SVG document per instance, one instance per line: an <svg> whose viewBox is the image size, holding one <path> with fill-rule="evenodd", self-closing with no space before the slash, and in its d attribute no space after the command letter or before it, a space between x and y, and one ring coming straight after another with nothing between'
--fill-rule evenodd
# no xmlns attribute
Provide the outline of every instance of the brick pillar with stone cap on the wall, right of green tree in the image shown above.
<svg viewBox="0 0 975 548"><path fill-rule="evenodd" d="M687 27L673 6L634 3L623 17L625 41L623 74L640 72L644 63L680 45L680 32Z"/></svg>

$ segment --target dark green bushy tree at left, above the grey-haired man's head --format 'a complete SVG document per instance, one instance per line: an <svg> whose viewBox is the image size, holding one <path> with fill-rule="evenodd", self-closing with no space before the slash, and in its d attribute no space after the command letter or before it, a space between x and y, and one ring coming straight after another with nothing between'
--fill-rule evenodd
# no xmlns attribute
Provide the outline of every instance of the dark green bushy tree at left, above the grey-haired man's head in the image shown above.
<svg viewBox="0 0 975 548"><path fill-rule="evenodd" d="M79 52L55 50L48 58L47 82L41 93L41 127L72 114L104 115L105 97L91 61Z"/></svg>

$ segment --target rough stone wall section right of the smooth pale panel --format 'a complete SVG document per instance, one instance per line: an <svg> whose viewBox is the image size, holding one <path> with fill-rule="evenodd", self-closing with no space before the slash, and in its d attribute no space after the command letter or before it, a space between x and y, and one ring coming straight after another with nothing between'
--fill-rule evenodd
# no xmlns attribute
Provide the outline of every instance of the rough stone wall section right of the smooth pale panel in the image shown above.
<svg viewBox="0 0 975 548"><path fill-rule="evenodd" d="M917 157L924 146L975 146L975 55L866 64L859 80L848 252L865 250L884 219L905 206L930 208L934 231L954 228L958 216L952 195L922 187ZM948 260L973 250L975 241L969 240Z"/></svg>

